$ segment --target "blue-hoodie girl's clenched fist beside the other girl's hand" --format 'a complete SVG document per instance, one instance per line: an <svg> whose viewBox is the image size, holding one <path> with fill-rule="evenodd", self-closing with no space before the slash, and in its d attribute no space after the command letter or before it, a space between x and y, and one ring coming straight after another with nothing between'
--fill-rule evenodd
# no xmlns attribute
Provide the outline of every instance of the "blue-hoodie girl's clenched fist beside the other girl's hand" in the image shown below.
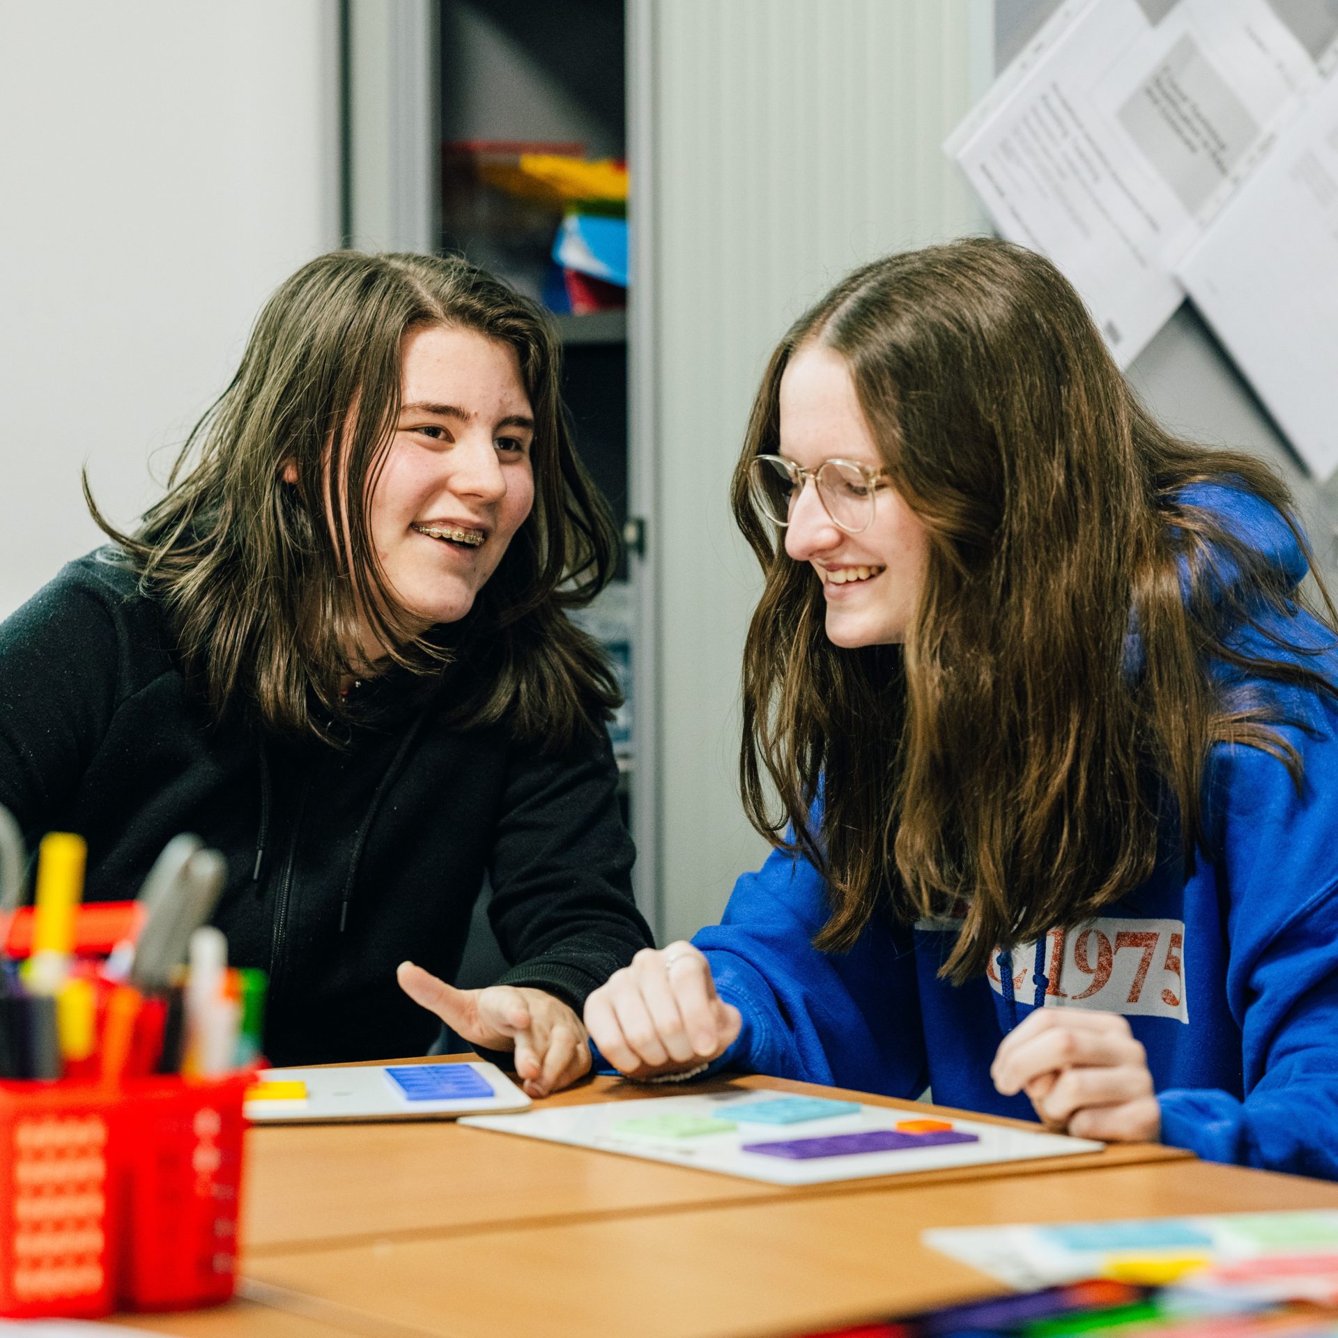
<svg viewBox="0 0 1338 1338"><path fill-rule="evenodd" d="M686 1073L731 1046L743 1018L721 1004L710 966L692 943L644 947L586 999L599 1052L630 1078Z"/></svg>

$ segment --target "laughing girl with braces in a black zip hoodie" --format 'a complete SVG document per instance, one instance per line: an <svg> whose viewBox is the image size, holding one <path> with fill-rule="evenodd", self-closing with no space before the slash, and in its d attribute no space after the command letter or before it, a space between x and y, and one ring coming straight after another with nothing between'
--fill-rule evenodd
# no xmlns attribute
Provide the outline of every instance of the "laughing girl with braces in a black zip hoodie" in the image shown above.
<svg viewBox="0 0 1338 1338"><path fill-rule="evenodd" d="M132 533L90 498L112 543L0 625L0 804L29 842L82 832L95 899L134 896L177 832L222 851L214 922L269 971L272 1062L423 1053L421 1004L545 1094L589 1068L586 994L650 939L615 682L565 611L615 538L558 360L538 308L460 260L322 256L166 496ZM455 990L484 879L515 965Z"/></svg>

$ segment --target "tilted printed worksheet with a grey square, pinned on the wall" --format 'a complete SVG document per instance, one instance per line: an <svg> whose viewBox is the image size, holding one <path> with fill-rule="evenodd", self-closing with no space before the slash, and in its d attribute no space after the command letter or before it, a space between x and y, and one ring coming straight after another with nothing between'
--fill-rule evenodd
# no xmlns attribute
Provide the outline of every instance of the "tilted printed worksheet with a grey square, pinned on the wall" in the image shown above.
<svg viewBox="0 0 1338 1338"><path fill-rule="evenodd" d="M1338 60L1338 17L1278 0L1065 0L945 145L1128 367L1175 270Z"/></svg>

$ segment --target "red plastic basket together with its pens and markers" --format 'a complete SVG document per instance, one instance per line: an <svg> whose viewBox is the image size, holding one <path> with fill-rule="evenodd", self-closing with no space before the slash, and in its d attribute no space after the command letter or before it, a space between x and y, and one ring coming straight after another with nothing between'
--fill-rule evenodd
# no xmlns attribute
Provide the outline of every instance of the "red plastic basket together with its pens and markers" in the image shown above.
<svg viewBox="0 0 1338 1338"><path fill-rule="evenodd" d="M7 816L0 910L12 911L23 863ZM12 1078L0 1081L0 1315L214 1305L235 1286L264 981L227 971L222 935L198 927L223 879L198 839L163 852L103 966L76 947L82 874L83 843L48 835L31 955L0 962L0 1074Z"/></svg>

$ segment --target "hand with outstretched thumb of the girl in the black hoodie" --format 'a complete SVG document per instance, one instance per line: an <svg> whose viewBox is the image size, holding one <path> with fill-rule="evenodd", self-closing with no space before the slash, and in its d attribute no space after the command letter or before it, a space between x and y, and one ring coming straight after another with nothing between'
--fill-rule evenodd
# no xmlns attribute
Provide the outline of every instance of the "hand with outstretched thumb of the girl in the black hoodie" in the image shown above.
<svg viewBox="0 0 1338 1338"><path fill-rule="evenodd" d="M435 1013L471 1045L514 1050L516 1077L526 1096L547 1096L590 1070L590 1046L581 1018L545 990L515 985L458 990L412 962L400 962L395 974L415 1004Z"/></svg>

